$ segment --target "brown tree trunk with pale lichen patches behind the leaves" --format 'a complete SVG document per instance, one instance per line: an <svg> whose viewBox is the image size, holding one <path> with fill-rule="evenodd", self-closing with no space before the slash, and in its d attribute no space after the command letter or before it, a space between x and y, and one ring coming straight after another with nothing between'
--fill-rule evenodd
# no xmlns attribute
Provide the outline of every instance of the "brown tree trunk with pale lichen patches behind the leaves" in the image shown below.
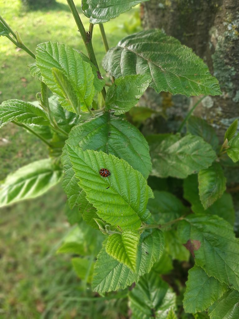
<svg viewBox="0 0 239 319"><path fill-rule="evenodd" d="M239 116L238 8L239 0L150 0L141 4L145 29L163 29L167 35L192 48L219 80L222 95L207 96L194 115L210 122L221 140L229 124ZM143 104L148 103L152 94L156 99L150 91ZM170 129L177 129L179 121L199 98L161 94L160 109L171 120ZM155 127L151 131L156 130L160 132Z"/></svg>

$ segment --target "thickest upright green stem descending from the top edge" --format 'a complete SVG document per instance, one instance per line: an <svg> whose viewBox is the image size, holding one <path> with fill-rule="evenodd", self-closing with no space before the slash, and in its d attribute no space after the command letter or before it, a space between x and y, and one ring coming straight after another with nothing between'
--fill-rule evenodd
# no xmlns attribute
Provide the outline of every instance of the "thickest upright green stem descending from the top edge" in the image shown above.
<svg viewBox="0 0 239 319"><path fill-rule="evenodd" d="M87 50L87 53L88 53L88 56L91 60L91 62L97 67L98 69L98 72L99 72L99 66L98 66L98 63L97 63L97 60L96 60L96 57L95 57L95 52L94 52L94 49L93 49L93 46L92 46L92 31L93 31L93 25L92 23L90 24L90 33L86 33L85 31L85 28L83 26L83 23L81 21L81 18L79 16L79 13L76 9L76 6L74 4L74 1L73 0L67 0L67 3L69 5L69 8L70 8L70 11L76 21L76 25L78 27L78 30L82 36L82 39L83 39L83 42L84 42L84 45L85 45L85 48ZM103 95L103 98L105 100L105 96L106 96L106 91L105 91L105 87L103 88L103 90L101 91L102 95Z"/></svg>

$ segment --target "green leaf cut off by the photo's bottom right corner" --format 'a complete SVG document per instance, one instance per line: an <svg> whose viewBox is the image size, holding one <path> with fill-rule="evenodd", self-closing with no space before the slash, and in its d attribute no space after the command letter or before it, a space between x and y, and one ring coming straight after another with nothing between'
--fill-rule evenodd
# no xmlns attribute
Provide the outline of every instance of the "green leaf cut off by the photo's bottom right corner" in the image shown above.
<svg viewBox="0 0 239 319"><path fill-rule="evenodd" d="M233 289L228 290L221 299L214 302L208 309L210 319L238 319L239 293Z"/></svg>

